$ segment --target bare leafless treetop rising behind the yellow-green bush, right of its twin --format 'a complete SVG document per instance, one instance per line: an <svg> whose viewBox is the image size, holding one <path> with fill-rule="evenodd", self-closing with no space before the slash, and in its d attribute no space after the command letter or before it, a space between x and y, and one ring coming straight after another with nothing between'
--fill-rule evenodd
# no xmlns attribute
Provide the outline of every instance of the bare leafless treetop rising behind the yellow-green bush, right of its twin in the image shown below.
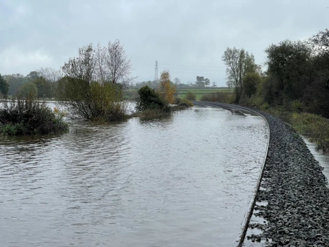
<svg viewBox="0 0 329 247"><path fill-rule="evenodd" d="M95 72L101 82L111 81L121 88L129 86L136 77L131 77L132 64L119 40L98 44L95 48Z"/></svg>

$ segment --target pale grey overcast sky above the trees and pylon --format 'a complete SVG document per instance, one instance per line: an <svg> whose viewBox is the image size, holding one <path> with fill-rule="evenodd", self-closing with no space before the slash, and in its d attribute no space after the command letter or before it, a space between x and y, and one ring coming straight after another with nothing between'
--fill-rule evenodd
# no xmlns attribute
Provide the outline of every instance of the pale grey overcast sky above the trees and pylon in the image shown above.
<svg viewBox="0 0 329 247"><path fill-rule="evenodd" d="M0 0L0 74L59 69L78 48L119 39L138 81L154 79L155 60L172 79L196 76L225 85L226 47L257 63L284 39L328 28L327 0Z"/></svg>

